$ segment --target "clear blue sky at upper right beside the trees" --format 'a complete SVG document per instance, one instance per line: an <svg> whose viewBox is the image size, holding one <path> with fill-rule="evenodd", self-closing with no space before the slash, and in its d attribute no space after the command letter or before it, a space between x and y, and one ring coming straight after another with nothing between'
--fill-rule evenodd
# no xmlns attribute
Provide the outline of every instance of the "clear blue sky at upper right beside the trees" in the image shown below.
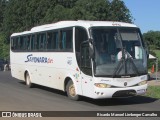
<svg viewBox="0 0 160 120"><path fill-rule="evenodd" d="M160 0L123 0L142 33L160 31Z"/></svg>

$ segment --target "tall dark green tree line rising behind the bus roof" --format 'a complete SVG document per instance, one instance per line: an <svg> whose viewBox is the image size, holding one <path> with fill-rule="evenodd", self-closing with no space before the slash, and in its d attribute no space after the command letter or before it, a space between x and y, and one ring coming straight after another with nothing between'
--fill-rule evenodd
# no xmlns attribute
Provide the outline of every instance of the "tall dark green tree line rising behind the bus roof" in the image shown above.
<svg viewBox="0 0 160 120"><path fill-rule="evenodd" d="M9 57L9 36L61 20L133 23L121 0L0 0L0 58Z"/></svg>

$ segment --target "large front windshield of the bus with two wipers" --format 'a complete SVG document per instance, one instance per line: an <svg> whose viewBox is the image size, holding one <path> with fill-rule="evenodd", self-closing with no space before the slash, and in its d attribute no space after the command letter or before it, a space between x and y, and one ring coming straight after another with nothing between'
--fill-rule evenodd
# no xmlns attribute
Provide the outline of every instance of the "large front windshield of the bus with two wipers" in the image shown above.
<svg viewBox="0 0 160 120"><path fill-rule="evenodd" d="M147 55L138 28L92 27L95 76L147 74Z"/></svg>

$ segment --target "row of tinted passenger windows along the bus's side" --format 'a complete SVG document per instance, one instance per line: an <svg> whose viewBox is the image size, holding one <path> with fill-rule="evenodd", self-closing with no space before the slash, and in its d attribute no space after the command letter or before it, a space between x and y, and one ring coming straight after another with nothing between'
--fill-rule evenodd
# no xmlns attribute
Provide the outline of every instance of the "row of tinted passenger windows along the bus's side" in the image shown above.
<svg viewBox="0 0 160 120"><path fill-rule="evenodd" d="M11 38L11 49L16 51L59 51L73 50L72 28L59 29Z"/></svg>

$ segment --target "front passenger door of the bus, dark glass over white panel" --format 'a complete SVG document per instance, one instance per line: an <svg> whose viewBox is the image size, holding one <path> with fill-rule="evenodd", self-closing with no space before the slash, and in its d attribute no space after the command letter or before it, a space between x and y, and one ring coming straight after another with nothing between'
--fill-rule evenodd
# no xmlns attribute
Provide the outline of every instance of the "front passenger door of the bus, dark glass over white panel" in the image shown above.
<svg viewBox="0 0 160 120"><path fill-rule="evenodd" d="M81 83L83 95L91 95L93 93L94 81L92 77L91 58L89 56L88 43L81 44Z"/></svg>

